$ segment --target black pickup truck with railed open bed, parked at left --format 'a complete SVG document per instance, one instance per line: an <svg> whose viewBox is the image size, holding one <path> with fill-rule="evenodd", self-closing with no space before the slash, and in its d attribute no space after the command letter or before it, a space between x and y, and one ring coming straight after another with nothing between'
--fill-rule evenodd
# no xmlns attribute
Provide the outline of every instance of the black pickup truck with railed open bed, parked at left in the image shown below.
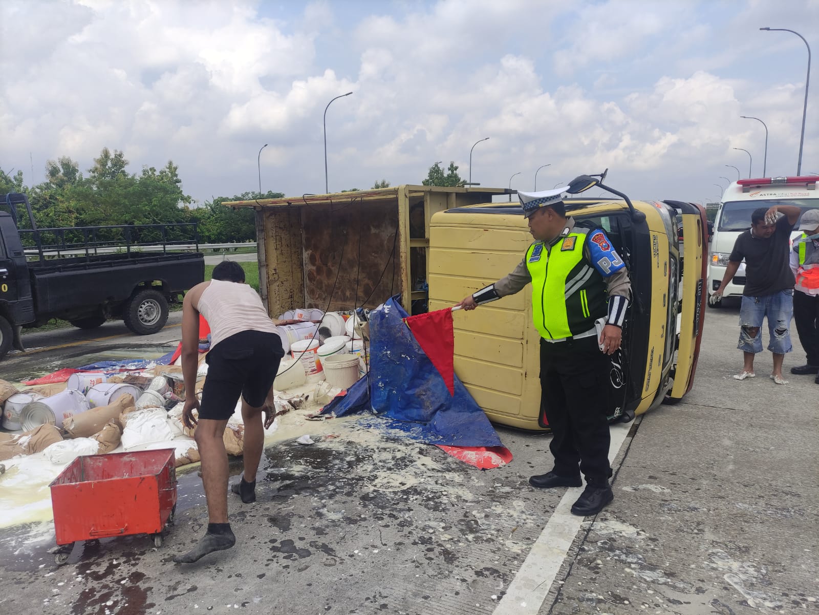
<svg viewBox="0 0 819 615"><path fill-rule="evenodd" d="M31 228L20 228L23 205ZM194 243L196 252L169 251ZM170 302L204 278L196 224L37 228L25 195L0 196L0 360L23 350L23 327L52 318L79 328L117 318L138 335L157 332Z"/></svg>

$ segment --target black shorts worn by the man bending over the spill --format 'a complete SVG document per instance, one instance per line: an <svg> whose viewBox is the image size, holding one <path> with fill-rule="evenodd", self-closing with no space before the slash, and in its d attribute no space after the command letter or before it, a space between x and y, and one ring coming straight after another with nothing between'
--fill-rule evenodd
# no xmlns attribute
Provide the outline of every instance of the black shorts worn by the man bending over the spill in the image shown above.
<svg viewBox="0 0 819 615"><path fill-rule="evenodd" d="M276 333L242 331L219 341L205 357L208 370L199 418L227 420L240 395L253 408L265 405L283 356Z"/></svg>

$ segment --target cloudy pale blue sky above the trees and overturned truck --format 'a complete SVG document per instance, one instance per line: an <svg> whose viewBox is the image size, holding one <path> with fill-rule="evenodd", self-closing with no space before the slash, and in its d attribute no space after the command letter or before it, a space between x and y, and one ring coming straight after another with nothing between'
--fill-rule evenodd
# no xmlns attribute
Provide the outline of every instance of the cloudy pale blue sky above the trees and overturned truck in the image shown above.
<svg viewBox="0 0 819 615"><path fill-rule="evenodd" d="M711 201L726 164L794 174L819 0L0 3L0 167L102 147L179 165L198 201L420 183L455 161L531 190L609 167L634 197ZM48 31L49 36L43 37ZM12 44L11 41L14 41ZM817 62L814 62L814 74ZM819 172L813 79L803 173Z"/></svg>

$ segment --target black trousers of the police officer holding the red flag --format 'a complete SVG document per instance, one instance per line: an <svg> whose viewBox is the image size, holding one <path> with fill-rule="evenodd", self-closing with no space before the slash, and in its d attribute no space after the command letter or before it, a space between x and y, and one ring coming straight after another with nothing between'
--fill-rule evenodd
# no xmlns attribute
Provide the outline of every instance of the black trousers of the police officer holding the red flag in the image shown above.
<svg viewBox="0 0 819 615"><path fill-rule="evenodd" d="M609 466L609 371L597 337L551 343L541 340L541 419L552 430L553 472L602 485Z"/></svg>

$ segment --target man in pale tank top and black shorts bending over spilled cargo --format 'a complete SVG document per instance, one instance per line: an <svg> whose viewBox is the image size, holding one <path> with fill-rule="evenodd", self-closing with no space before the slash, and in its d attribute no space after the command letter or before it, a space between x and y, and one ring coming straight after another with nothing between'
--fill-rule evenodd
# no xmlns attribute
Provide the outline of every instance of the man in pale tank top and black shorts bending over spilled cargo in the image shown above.
<svg viewBox="0 0 819 615"><path fill-rule="evenodd" d="M284 350L276 332L278 320L269 318L260 296L244 282L241 265L226 260L215 266L210 282L197 284L183 301L183 421L187 427L196 426L194 439L201 456L209 523L205 536L193 549L174 557L176 563L196 562L236 543L228 522L228 454L222 438L239 396L245 424L244 474L233 485L233 492L246 504L256 501L256 470L265 446L264 430L274 418L265 399ZM201 402L196 396L200 313L210 325L211 337Z"/></svg>

